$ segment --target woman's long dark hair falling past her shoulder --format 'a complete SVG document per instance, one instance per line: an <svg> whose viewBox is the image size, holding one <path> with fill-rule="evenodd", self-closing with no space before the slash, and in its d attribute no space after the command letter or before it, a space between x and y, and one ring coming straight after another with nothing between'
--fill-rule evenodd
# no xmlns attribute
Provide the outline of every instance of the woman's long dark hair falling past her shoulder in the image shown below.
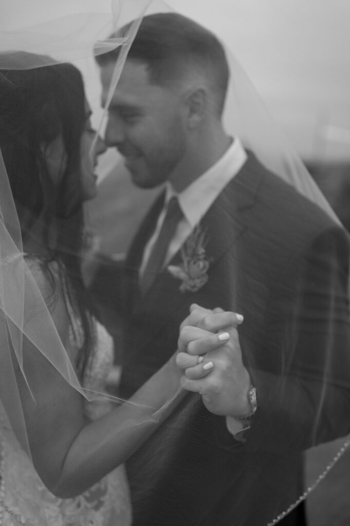
<svg viewBox="0 0 350 526"><path fill-rule="evenodd" d="M2 55L1 62L7 60L13 67L23 59L30 63L30 58L28 53L10 53ZM80 143L86 120L84 85L73 65L52 64L53 60L44 56L35 56L36 64L39 58L42 67L0 69L0 149L24 251L41 263L52 285L49 263L58 263L65 301L70 304L67 310L72 312L73 308L82 321L85 345L76 365L83 373L93 338L91 302L80 260L84 227L80 172ZM45 66L48 60L51 65ZM62 141L62 163L58 176L52 177L47 151L55 139ZM29 243L33 227L39 232L35 243L38 250ZM73 330L75 325L72 321Z"/></svg>

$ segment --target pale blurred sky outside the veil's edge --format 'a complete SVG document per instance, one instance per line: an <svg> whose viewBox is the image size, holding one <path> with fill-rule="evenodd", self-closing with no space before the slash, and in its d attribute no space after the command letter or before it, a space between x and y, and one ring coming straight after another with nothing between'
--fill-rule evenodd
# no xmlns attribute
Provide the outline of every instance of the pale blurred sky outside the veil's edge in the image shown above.
<svg viewBox="0 0 350 526"><path fill-rule="evenodd" d="M130 3L133 0L129 0ZM348 0L169 0L227 42L304 159L350 158ZM110 0L1 0L0 29Z"/></svg>

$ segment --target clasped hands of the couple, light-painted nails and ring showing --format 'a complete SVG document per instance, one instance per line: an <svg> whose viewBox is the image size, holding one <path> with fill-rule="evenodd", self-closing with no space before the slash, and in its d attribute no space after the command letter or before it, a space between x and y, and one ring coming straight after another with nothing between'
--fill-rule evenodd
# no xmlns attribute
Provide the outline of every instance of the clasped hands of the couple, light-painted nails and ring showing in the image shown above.
<svg viewBox="0 0 350 526"><path fill-rule="evenodd" d="M183 370L181 386L198 392L208 411L243 416L252 411L247 392L251 378L242 361L237 326L243 316L193 304L182 322L177 366Z"/></svg>

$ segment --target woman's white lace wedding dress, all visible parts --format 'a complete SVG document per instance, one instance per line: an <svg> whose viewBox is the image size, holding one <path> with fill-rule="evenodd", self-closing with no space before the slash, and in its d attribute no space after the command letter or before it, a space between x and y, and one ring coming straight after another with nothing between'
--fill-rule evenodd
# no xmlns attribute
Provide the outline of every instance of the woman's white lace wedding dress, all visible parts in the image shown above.
<svg viewBox="0 0 350 526"><path fill-rule="evenodd" d="M113 341L96 322L96 350L86 367L83 385L104 391L113 364ZM110 409L107 401L85 400L85 414L94 420ZM5 417L0 403L0 526L129 526L131 504L123 466L104 477L85 493L59 499L36 474ZM24 511L25 510L25 511Z"/></svg>

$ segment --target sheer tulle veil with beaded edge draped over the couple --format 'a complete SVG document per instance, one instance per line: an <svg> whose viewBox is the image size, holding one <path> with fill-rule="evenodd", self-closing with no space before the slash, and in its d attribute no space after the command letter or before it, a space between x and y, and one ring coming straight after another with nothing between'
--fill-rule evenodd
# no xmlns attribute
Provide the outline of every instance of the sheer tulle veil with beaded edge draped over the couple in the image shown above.
<svg viewBox="0 0 350 526"><path fill-rule="evenodd" d="M219 35L155 4L0 33L2 525L300 526L347 445L305 485L350 432L348 235ZM159 187L109 284L118 396L107 148Z"/></svg>

